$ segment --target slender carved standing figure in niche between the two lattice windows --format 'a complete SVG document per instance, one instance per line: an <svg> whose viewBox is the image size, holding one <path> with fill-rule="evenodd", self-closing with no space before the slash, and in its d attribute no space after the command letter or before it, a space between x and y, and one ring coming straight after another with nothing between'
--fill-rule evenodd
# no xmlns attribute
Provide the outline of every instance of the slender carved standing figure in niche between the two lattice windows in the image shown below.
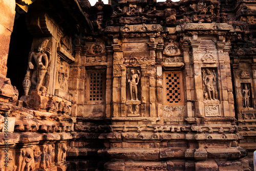
<svg viewBox="0 0 256 171"><path fill-rule="evenodd" d="M137 73L135 73L134 69L131 69L130 72L129 72L129 70L127 71L127 80L129 82L131 100L134 100L134 97L136 100L139 100L137 85L140 80L140 71L137 70Z"/></svg>

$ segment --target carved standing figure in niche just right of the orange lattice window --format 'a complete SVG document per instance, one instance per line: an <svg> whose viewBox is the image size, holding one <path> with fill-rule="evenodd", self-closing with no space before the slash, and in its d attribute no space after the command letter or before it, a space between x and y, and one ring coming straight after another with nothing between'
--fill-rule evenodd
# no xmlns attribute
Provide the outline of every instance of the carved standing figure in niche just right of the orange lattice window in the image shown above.
<svg viewBox="0 0 256 171"><path fill-rule="evenodd" d="M206 72L206 73L205 73ZM216 100L218 93L216 90L216 72L212 70L212 74L208 68L202 70L203 76L203 90L205 100Z"/></svg>

